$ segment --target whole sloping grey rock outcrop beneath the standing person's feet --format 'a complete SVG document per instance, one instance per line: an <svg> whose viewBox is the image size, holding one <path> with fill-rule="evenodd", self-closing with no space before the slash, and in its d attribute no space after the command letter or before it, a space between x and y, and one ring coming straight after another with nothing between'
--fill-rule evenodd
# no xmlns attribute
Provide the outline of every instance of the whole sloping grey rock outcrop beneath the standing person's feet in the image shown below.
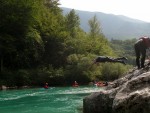
<svg viewBox="0 0 150 113"><path fill-rule="evenodd" d="M150 113L150 68L132 70L83 99L84 113Z"/></svg>

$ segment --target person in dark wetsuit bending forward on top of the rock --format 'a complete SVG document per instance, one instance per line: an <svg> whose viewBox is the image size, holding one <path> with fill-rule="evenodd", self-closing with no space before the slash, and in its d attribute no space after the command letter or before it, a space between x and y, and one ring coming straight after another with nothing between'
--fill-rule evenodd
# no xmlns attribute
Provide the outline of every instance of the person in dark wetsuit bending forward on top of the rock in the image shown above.
<svg viewBox="0 0 150 113"><path fill-rule="evenodd" d="M138 69L144 68L145 58L146 58L146 49L150 47L150 38L141 37L134 44L135 54L136 54L136 65ZM141 57L141 58L140 58Z"/></svg>

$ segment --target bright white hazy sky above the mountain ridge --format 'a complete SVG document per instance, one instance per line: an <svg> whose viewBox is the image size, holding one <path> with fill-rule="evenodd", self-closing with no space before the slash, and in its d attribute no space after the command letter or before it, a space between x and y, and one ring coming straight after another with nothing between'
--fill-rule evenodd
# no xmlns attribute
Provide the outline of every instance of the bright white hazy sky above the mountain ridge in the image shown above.
<svg viewBox="0 0 150 113"><path fill-rule="evenodd" d="M150 0L59 0L61 7L97 11L150 22Z"/></svg>

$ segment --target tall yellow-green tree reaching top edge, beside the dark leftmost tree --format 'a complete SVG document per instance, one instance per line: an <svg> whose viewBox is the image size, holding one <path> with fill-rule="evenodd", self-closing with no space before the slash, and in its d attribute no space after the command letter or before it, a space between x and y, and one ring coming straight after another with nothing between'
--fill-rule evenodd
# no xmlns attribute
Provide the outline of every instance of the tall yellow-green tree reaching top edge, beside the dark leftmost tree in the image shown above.
<svg viewBox="0 0 150 113"><path fill-rule="evenodd" d="M65 40L68 33L65 30L64 17L58 7L57 0L45 3L42 12L42 22L40 34L44 42L44 53L41 63L44 66L52 65L55 68L61 67L65 63Z"/></svg>

